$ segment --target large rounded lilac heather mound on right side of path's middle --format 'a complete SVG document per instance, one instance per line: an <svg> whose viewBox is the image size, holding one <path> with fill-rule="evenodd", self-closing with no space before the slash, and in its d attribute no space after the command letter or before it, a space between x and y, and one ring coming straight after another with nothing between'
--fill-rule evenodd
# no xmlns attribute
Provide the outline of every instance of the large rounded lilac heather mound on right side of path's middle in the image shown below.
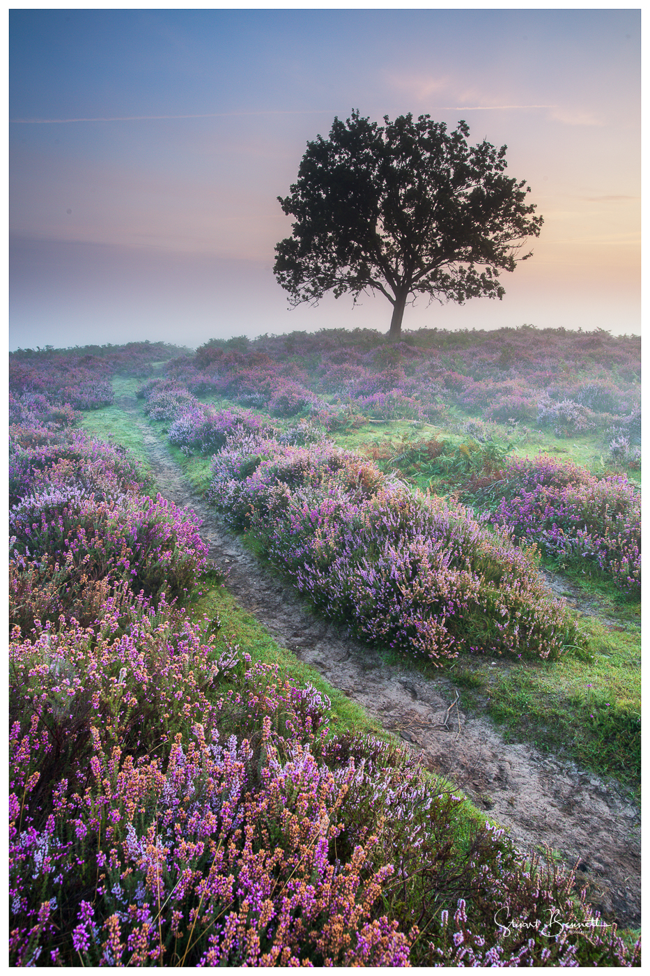
<svg viewBox="0 0 650 976"><path fill-rule="evenodd" d="M266 529L269 554L366 639L433 661L459 651L552 658L579 639L534 558L466 510L389 486L358 505L305 495L287 498L284 524Z"/></svg>

